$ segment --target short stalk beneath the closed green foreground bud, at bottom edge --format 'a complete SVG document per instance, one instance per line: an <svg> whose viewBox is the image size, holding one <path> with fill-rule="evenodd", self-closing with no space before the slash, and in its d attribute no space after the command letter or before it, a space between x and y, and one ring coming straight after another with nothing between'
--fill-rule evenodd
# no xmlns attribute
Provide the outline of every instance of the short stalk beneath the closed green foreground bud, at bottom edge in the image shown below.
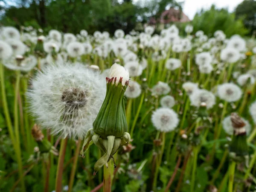
<svg viewBox="0 0 256 192"><path fill-rule="evenodd" d="M111 192L112 176L113 176L113 160L111 159L108 162L108 168L107 166L104 166L104 170L103 170L103 192Z"/></svg>

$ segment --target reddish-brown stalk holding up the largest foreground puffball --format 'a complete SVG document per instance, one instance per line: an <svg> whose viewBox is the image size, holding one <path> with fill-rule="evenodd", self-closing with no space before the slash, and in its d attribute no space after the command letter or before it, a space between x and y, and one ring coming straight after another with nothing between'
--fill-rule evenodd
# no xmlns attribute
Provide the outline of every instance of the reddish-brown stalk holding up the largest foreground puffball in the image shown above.
<svg viewBox="0 0 256 192"><path fill-rule="evenodd" d="M58 166L57 166L57 176L55 180L55 192L62 192L62 174L63 174L63 165L64 165L66 148L67 148L67 138L61 140L61 148L59 151Z"/></svg>

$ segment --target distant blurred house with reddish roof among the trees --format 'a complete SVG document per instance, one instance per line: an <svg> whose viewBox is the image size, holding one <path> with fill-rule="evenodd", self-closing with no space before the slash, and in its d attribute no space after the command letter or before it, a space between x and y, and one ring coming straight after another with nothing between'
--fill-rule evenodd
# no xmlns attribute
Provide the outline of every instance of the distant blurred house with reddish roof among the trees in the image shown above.
<svg viewBox="0 0 256 192"><path fill-rule="evenodd" d="M165 25L172 22L180 22L186 23L189 22L190 19L186 16L181 10L170 8L169 10L165 10L161 15L160 18L151 17L149 20L149 25Z"/></svg>

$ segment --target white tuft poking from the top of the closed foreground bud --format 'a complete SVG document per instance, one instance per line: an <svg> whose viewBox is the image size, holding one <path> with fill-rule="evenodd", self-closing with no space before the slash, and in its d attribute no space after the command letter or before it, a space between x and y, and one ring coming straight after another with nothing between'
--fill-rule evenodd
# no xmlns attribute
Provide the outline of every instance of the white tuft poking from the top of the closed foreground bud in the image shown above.
<svg viewBox="0 0 256 192"><path fill-rule="evenodd" d="M110 68L108 78L116 78L116 84L118 84L119 80L122 78L122 85L124 86L127 82L129 82L129 72L127 69L125 69L125 67L114 63Z"/></svg>

